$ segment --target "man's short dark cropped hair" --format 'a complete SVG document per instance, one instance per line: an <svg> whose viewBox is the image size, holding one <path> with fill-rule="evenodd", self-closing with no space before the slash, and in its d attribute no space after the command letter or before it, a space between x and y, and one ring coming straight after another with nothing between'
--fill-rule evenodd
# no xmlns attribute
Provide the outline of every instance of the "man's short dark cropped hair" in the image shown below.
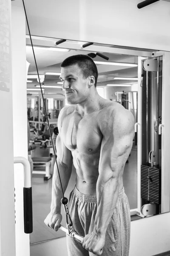
<svg viewBox="0 0 170 256"><path fill-rule="evenodd" d="M66 58L62 64L61 67L68 67L71 65L77 64L78 67L82 70L83 78L86 79L88 76L94 76L95 78L95 87L97 85L97 78L98 78L98 71L96 64L87 55L84 54L78 54L78 55L73 55L68 58Z"/></svg>

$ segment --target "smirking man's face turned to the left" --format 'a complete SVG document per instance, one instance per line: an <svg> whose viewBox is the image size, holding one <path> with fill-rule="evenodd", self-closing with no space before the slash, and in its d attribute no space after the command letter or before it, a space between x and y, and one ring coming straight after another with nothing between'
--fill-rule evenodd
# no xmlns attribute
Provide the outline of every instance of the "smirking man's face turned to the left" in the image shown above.
<svg viewBox="0 0 170 256"><path fill-rule="evenodd" d="M68 104L79 104L87 99L89 78L83 78L82 70L77 64L62 67L60 79L63 82L62 90Z"/></svg>

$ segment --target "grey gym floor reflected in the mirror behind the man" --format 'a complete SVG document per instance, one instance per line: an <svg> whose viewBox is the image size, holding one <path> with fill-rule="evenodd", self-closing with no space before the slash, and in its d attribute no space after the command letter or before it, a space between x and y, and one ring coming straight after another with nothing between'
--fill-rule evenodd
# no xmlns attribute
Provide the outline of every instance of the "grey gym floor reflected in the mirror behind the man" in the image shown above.
<svg viewBox="0 0 170 256"><path fill-rule="evenodd" d="M37 145L36 149L32 151L32 157L36 156L49 156L49 148L40 148ZM53 174L54 156L51 161L51 174ZM42 170L36 168L36 170ZM30 244L38 243L40 241L47 241L65 236L65 233L61 230L55 232L44 224L44 219L50 212L51 205L51 189L52 179L44 181L44 175L32 175L32 200L33 200L33 233L30 234ZM68 188L65 192L65 197L69 198L69 193L75 185L76 171L73 167L71 178L68 184ZM134 146L131 150L128 163L125 165L123 182L125 187L125 193L129 200L130 209L137 208L137 148ZM65 226L65 212L62 207L62 225ZM131 220L136 219L132 216Z"/></svg>

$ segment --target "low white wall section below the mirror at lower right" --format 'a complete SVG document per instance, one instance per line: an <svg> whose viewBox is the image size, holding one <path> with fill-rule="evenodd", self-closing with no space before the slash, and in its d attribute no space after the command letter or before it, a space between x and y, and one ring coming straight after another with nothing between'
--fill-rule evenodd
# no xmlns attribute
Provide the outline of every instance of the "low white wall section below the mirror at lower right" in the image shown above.
<svg viewBox="0 0 170 256"><path fill-rule="evenodd" d="M152 256L170 250L170 213L131 221L129 256Z"/></svg>

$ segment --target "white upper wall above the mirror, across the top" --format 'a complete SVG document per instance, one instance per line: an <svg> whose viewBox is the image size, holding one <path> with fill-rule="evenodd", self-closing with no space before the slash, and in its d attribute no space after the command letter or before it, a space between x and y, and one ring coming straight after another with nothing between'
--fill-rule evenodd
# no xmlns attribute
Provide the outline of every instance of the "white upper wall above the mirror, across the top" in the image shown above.
<svg viewBox="0 0 170 256"><path fill-rule="evenodd" d="M26 0L26 10L32 35L169 51L170 3L141 1Z"/></svg>

